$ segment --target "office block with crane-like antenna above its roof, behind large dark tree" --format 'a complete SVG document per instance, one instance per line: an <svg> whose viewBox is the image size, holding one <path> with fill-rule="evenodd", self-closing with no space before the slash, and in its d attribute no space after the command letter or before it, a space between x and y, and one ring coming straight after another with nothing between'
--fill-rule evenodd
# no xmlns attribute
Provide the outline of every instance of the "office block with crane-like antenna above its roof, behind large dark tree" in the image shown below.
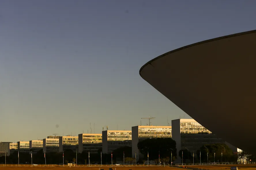
<svg viewBox="0 0 256 170"><path fill-rule="evenodd" d="M172 126L133 126L132 132L132 156L140 157L137 144L141 140L148 138L172 138Z"/></svg>

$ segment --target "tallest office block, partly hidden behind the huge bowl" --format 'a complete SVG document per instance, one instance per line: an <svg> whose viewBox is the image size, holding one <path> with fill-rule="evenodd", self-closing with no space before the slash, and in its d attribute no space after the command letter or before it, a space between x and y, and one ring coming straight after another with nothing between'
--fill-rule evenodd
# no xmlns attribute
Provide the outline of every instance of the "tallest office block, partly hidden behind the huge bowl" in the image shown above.
<svg viewBox="0 0 256 170"><path fill-rule="evenodd" d="M176 141L177 152L187 148L194 154L203 145L225 143L194 119L172 120L172 139Z"/></svg>

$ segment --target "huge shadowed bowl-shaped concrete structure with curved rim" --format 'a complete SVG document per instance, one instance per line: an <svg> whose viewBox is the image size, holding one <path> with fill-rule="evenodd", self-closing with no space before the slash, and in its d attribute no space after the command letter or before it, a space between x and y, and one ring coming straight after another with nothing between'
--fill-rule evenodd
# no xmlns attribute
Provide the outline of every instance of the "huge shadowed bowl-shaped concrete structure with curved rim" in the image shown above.
<svg viewBox="0 0 256 170"><path fill-rule="evenodd" d="M140 76L212 133L256 154L255 47L256 30L197 42L152 59Z"/></svg>

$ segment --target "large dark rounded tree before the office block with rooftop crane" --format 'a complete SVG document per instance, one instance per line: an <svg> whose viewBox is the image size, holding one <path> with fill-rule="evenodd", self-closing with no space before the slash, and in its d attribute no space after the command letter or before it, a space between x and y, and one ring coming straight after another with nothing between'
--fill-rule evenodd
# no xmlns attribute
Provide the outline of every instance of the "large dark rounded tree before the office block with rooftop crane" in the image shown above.
<svg viewBox="0 0 256 170"><path fill-rule="evenodd" d="M137 144L140 153L144 155L144 159L154 160L160 157L177 156L176 142L172 138L153 138L145 139Z"/></svg>

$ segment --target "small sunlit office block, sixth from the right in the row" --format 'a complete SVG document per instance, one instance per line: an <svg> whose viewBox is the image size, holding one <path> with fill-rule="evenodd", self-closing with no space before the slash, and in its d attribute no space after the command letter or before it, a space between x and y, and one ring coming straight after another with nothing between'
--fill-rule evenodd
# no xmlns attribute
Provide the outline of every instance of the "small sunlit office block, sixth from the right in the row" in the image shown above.
<svg viewBox="0 0 256 170"><path fill-rule="evenodd" d="M59 152L59 139L43 139L43 152Z"/></svg>

